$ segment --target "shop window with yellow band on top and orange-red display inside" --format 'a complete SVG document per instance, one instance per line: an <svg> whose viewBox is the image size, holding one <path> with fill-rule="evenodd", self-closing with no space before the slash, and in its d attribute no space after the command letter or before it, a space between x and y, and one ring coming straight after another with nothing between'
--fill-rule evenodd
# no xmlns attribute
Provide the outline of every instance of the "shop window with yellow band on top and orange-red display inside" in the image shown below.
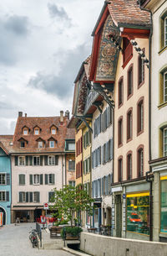
<svg viewBox="0 0 167 256"><path fill-rule="evenodd" d="M127 231L149 236L149 192L126 196Z"/></svg>

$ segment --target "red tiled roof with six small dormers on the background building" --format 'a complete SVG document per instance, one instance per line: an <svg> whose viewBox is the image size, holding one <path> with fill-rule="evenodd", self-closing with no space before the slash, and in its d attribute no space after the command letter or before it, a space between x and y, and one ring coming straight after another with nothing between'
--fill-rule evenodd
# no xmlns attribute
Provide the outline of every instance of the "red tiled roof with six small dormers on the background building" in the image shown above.
<svg viewBox="0 0 167 256"><path fill-rule="evenodd" d="M56 126L58 131L56 134L51 134L51 127ZM64 152L65 139L67 137L72 137L74 130L67 128L68 118L63 117L63 123L60 123L60 117L46 117L46 118L36 118L36 117L18 117L18 122L15 128L15 133L13 137L13 153L56 153ZM23 134L23 127L29 128L28 135ZM41 128L38 135L34 134L34 128L38 126ZM49 148L49 138L53 137L55 141L55 148ZM24 138L28 141L25 148L20 148L19 139ZM38 149L38 138L42 138L45 141L45 147Z"/></svg>

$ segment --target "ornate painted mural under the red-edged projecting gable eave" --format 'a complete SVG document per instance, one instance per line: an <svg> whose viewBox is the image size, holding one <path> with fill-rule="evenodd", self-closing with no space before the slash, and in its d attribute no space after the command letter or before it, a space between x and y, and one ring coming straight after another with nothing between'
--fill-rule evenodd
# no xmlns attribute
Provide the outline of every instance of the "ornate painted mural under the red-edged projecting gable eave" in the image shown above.
<svg viewBox="0 0 167 256"><path fill-rule="evenodd" d="M119 30L109 15L104 24L99 47L96 81L114 81L119 50L115 48L113 42L109 39L109 34L113 32L119 41Z"/></svg>

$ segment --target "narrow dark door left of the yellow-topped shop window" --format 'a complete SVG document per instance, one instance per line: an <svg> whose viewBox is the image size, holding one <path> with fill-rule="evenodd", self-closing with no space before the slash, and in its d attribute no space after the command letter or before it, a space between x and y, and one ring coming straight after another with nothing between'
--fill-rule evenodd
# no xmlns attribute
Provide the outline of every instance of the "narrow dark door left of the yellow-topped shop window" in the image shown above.
<svg viewBox="0 0 167 256"><path fill-rule="evenodd" d="M115 196L116 200L116 237L122 237L122 203L121 203L121 195Z"/></svg>

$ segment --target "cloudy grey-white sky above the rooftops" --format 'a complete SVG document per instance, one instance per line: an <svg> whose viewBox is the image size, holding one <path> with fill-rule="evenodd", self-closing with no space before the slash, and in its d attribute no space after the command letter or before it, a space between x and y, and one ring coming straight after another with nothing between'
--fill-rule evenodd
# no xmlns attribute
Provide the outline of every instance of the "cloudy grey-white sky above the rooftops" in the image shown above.
<svg viewBox="0 0 167 256"><path fill-rule="evenodd" d="M5 0L0 3L0 134L28 116L71 112L73 81L91 53L104 0Z"/></svg>

